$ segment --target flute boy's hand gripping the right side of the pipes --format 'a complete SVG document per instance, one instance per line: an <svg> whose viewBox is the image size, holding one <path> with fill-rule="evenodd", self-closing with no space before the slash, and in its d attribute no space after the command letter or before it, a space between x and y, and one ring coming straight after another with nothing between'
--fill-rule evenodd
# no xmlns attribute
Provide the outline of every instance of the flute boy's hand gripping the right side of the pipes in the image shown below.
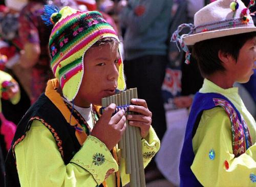
<svg viewBox="0 0 256 187"><path fill-rule="evenodd" d="M137 112L139 114L127 115L129 125L139 127L141 137L145 138L150 131L150 126L152 123L152 112L148 110L145 100L132 99L131 101L135 105L129 106L129 110Z"/></svg>

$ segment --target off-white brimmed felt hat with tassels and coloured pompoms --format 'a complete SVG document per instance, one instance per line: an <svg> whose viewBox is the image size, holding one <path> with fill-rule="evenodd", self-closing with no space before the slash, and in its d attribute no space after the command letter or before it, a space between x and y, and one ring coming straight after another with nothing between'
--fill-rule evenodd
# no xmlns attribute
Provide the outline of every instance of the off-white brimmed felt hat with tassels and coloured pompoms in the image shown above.
<svg viewBox="0 0 256 187"><path fill-rule="evenodd" d="M248 8L241 0L217 0L200 9L194 16L193 24L182 24L173 33L171 41L186 53L185 63L190 62L187 45L207 39L242 33L256 32L249 8L255 5L250 1ZM180 36L184 28L190 28L188 34Z"/></svg>

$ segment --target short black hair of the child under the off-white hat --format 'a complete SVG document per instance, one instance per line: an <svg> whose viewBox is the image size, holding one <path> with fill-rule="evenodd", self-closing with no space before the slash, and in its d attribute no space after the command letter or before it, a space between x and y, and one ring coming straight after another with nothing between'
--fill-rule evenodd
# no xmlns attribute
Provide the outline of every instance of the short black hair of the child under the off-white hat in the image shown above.
<svg viewBox="0 0 256 187"><path fill-rule="evenodd" d="M246 41L256 36L256 32L212 38L199 41L193 45L192 55L196 58L201 75L214 74L217 71L225 71L219 51L231 55L236 61L242 46Z"/></svg>

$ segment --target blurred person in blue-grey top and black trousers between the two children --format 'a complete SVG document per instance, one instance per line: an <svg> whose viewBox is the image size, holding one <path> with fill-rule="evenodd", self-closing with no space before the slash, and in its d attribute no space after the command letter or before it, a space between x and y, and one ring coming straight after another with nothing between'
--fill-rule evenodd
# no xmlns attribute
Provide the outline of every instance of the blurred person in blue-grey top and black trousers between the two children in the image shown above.
<svg viewBox="0 0 256 187"><path fill-rule="evenodd" d="M161 85L167 64L168 28L172 1L128 1L120 13L124 36L127 87L137 87L153 111L153 125L161 138L165 116Z"/></svg>

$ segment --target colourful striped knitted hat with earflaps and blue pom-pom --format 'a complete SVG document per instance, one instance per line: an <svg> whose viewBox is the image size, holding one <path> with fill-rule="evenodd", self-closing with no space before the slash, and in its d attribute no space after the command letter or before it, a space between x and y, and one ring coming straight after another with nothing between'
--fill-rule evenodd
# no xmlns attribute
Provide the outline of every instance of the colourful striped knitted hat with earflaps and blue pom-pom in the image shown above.
<svg viewBox="0 0 256 187"><path fill-rule="evenodd" d="M46 6L42 19L46 24L54 25L49 40L51 68L59 80L63 96L72 101L82 81L83 56L86 51L102 38L112 37L118 40L118 36L97 11L81 12L70 7L58 11L56 7ZM122 59L118 64L117 89L124 90Z"/></svg>

